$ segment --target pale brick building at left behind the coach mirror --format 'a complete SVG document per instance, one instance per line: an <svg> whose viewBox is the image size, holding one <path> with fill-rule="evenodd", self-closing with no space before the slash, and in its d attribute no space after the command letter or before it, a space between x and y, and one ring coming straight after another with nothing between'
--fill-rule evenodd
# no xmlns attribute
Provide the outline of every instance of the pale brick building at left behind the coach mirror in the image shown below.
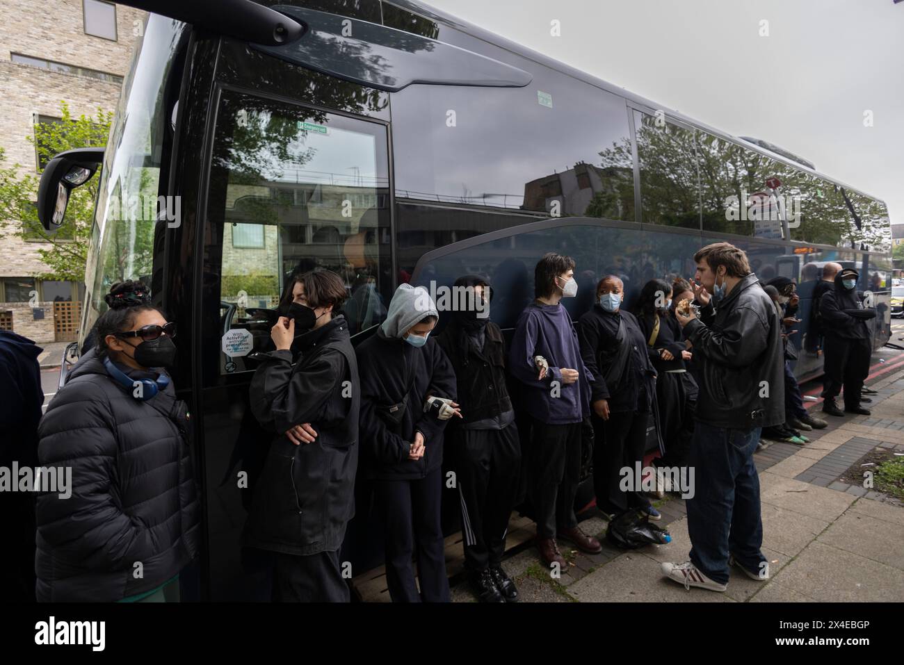
<svg viewBox="0 0 904 665"><path fill-rule="evenodd" d="M100 0L3 0L2 14L3 166L38 173L26 137L59 117L61 100L73 117L116 108L146 14ZM22 222L8 221L0 228L0 328L39 344L74 339L83 285L35 279L47 269L38 249L51 246L15 235Z"/></svg>

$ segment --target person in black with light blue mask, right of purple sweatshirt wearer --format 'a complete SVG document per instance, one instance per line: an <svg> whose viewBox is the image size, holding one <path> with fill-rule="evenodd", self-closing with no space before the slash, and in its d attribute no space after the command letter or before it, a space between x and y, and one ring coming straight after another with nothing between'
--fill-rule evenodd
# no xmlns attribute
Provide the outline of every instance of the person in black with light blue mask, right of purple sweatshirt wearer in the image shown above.
<svg viewBox="0 0 904 665"><path fill-rule="evenodd" d="M612 520L626 510L661 519L637 487L622 492L621 471L643 462L646 425L655 399L653 368L646 338L634 314L622 306L625 285L614 275L597 285L597 304L580 317L580 351L593 376L593 486L597 507Z"/></svg>

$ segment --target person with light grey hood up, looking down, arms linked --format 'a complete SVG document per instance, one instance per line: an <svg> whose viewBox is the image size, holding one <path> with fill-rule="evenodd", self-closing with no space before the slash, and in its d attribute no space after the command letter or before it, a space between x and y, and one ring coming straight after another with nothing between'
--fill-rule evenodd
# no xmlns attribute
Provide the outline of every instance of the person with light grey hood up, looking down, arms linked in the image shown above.
<svg viewBox="0 0 904 665"><path fill-rule="evenodd" d="M461 417L452 363L429 335L438 312L422 286L396 289L377 333L358 348L362 466L383 522L394 603L448 602L440 524L443 434ZM417 552L418 581L411 557Z"/></svg>

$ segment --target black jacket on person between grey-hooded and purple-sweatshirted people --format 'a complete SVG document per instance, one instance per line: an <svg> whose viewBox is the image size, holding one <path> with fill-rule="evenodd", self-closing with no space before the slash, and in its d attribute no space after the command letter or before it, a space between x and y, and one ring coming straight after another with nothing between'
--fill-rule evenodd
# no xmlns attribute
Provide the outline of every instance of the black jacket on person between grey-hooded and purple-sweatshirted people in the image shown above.
<svg viewBox="0 0 904 665"><path fill-rule="evenodd" d="M464 326L450 322L437 336L457 377L461 423L474 423L512 410L505 384L505 341L499 326L489 321L484 329L484 350L477 351Z"/></svg>

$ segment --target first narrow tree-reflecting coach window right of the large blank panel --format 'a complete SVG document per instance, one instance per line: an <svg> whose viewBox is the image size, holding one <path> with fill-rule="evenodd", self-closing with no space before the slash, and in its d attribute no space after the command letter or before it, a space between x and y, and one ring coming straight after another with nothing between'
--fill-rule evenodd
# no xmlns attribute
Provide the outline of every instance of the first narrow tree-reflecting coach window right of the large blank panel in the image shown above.
<svg viewBox="0 0 904 665"><path fill-rule="evenodd" d="M642 221L700 229L700 193L692 129L635 112Z"/></svg>

